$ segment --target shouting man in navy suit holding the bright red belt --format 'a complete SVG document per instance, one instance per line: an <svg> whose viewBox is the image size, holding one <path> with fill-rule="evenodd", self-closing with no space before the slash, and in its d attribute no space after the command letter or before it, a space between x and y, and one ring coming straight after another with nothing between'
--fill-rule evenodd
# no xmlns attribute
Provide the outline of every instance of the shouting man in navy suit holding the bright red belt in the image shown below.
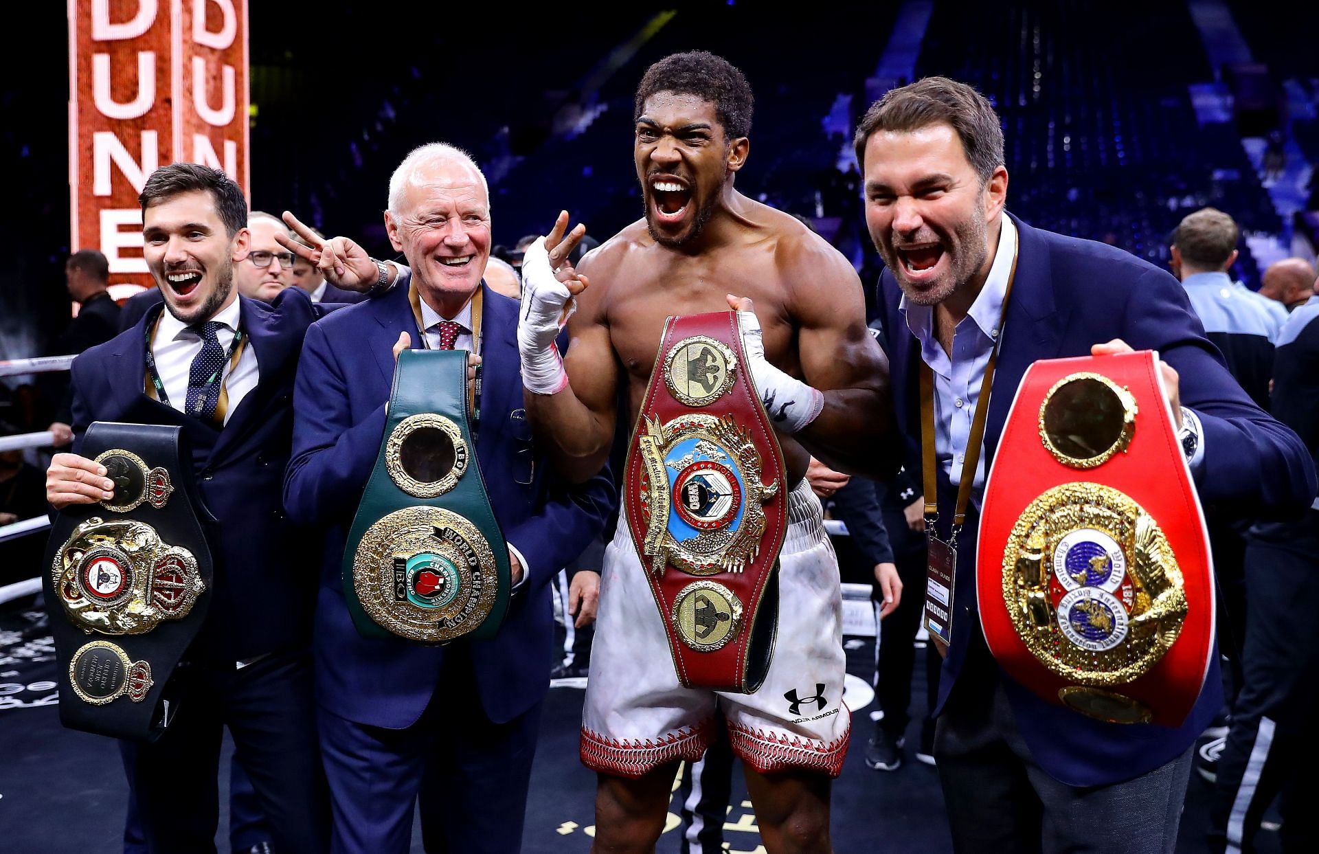
<svg viewBox="0 0 1319 854"><path fill-rule="evenodd" d="M1013 682L981 635L979 495L1013 392L1037 359L1157 350L1202 502L1299 512L1315 495L1314 465L1297 436L1233 381L1175 279L1119 249L1004 215L1002 147L989 103L946 78L893 90L856 132L867 226L888 265L880 310L896 417L913 459L921 458L922 360L934 375L942 520L952 516L964 461L980 451L979 466L966 466L975 488L954 582L960 619L943 663L934 744L954 847L1173 851L1190 748L1220 705L1217 655L1183 726L1117 725ZM968 449L971 413L1000 338L983 451Z"/></svg>

